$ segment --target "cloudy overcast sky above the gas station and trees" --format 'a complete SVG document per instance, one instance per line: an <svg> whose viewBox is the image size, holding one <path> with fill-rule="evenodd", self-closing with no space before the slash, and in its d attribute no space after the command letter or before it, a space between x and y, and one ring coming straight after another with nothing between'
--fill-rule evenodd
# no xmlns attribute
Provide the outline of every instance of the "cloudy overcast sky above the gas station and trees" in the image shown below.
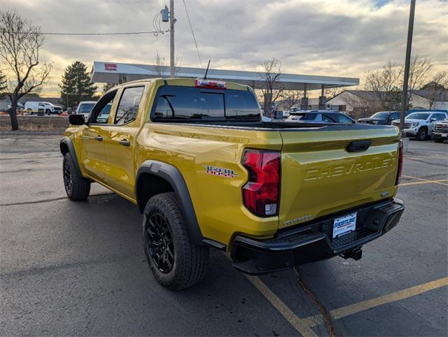
<svg viewBox="0 0 448 337"><path fill-rule="evenodd" d="M181 66L201 66L183 6L175 0L176 55ZM269 57L284 71L362 77L388 60L404 62L409 1L185 0L202 62L211 68L255 71ZM162 0L0 0L45 32L151 31ZM417 0L414 54L448 70L448 1ZM162 22L162 29L168 24ZM41 61L53 62L45 94L75 60L152 64L169 59L169 36L46 36Z"/></svg>

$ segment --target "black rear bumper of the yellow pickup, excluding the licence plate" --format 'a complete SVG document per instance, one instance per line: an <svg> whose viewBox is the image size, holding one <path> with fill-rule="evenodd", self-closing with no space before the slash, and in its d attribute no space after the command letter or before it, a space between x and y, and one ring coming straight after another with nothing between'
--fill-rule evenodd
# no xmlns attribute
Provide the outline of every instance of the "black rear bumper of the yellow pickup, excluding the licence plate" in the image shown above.
<svg viewBox="0 0 448 337"><path fill-rule="evenodd" d="M270 273L328 259L336 255L360 258L360 248L398 224L405 207L399 199L360 206L319 220L279 231L274 238L255 240L236 236L233 266L250 275ZM357 212L356 231L332 239L336 217ZM358 259L358 258L356 258Z"/></svg>

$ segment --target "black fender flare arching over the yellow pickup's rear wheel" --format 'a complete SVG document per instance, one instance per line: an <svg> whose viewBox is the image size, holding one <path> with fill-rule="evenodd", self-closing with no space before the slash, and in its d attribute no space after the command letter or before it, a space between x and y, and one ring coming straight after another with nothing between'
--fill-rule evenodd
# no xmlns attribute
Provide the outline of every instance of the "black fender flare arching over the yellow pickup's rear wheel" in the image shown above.
<svg viewBox="0 0 448 337"><path fill-rule="evenodd" d="M139 186L139 177L144 173L157 175L160 178L167 180L167 182L172 185L174 193L179 200L183 216L185 217L188 234L190 234L191 240L195 243L195 245L204 245L204 236L202 236L199 223L197 222L193 201L191 201L190 192L188 192L188 187L183 179L182 173L171 164L159 162L157 160L146 160L143 164L141 164L139 170L137 171L137 177L135 180L136 196L138 195L137 188Z"/></svg>

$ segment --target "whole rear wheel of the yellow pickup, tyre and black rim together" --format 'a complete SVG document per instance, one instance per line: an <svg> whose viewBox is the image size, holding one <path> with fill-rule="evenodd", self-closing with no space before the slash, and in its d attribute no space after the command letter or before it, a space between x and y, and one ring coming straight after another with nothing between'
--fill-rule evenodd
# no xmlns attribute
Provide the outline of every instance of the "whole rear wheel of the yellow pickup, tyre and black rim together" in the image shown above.
<svg viewBox="0 0 448 337"><path fill-rule="evenodd" d="M209 248L191 242L174 193L149 199L144 210L143 242L151 272L160 285L181 290L204 277Z"/></svg>

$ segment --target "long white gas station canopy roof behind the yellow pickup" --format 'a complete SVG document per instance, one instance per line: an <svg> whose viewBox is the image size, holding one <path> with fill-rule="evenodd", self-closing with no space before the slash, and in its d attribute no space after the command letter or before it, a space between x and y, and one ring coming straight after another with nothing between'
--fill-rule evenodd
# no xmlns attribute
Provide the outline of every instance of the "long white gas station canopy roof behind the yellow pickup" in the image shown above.
<svg viewBox="0 0 448 337"><path fill-rule="evenodd" d="M176 67L178 78L202 78L205 69L190 68L185 66ZM116 62L93 62L90 82L92 83L125 83L131 80L143 78L169 77L169 66L155 66L152 64L127 64ZM256 71L239 71L225 69L209 69L207 78L214 80L228 80L253 88L265 86L261 73ZM334 87L348 87L359 85L359 78L344 78L334 76L297 75L293 73L282 73L274 83L274 89L286 90L315 90Z"/></svg>

